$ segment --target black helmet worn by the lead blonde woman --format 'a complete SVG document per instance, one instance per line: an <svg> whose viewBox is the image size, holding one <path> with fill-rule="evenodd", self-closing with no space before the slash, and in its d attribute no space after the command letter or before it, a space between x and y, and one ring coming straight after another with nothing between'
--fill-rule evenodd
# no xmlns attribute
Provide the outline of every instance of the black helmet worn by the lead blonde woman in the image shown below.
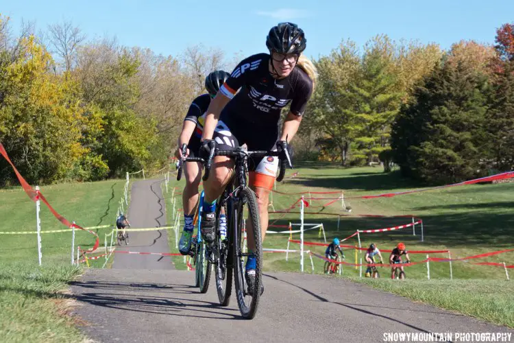
<svg viewBox="0 0 514 343"><path fill-rule="evenodd" d="M279 23L271 27L266 38L268 50L279 54L301 54L306 43L304 30L293 23Z"/></svg>

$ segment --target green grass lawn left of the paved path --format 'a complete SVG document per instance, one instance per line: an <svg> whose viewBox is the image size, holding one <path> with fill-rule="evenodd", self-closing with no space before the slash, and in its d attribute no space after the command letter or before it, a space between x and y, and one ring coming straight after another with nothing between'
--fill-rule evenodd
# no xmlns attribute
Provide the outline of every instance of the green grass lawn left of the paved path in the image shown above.
<svg viewBox="0 0 514 343"><path fill-rule="evenodd" d="M66 183L41 187L58 213L80 226L112 225L125 180ZM0 190L0 232L36 230L36 205L19 188ZM41 204L42 230L65 227ZM95 229L101 238L111 228ZM76 231L75 247L91 248L95 237ZM73 318L63 316L71 304L67 283L82 268L71 265L71 232L42 235L42 268L36 235L0 235L0 335L3 342L80 342ZM104 261L91 261L101 267Z"/></svg>

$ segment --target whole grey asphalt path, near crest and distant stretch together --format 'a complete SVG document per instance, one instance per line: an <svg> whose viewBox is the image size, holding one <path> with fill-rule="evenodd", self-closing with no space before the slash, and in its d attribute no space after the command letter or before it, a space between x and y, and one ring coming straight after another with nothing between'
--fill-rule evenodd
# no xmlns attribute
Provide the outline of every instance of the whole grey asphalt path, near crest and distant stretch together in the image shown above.
<svg viewBox="0 0 514 343"><path fill-rule="evenodd" d="M136 182L133 227L164 224L161 205L158 181ZM167 251L166 242L165 232L132 233L130 249ZM296 273L265 273L258 314L243 320L234 295L219 307L214 278L200 294L193 272L159 257L120 254L113 268L87 270L71 285L74 314L97 342L384 342L389 332L514 332L351 281Z"/></svg>

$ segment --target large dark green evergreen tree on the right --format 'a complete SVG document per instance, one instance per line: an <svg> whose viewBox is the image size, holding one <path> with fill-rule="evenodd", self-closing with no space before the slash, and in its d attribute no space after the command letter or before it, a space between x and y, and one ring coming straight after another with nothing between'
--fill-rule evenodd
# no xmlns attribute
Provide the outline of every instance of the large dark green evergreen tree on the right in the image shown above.
<svg viewBox="0 0 514 343"><path fill-rule="evenodd" d="M391 146L402 172L430 183L484 175L487 78L462 62L443 60L403 106Z"/></svg>

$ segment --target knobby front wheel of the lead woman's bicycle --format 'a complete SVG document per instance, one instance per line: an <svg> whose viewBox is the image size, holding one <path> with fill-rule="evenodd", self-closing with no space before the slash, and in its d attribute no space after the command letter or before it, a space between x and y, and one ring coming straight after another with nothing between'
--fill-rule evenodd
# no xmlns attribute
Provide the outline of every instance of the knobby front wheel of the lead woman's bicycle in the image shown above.
<svg viewBox="0 0 514 343"><path fill-rule="evenodd" d="M253 319L257 313L260 299L260 287L262 285L262 245L260 239L260 220L255 193L248 187L244 187L238 193L239 201L234 204L232 210L232 250L234 257L234 284L239 311L246 319ZM253 289L249 289L245 281L245 263L248 253L244 251L243 237L243 209L246 204L248 209L248 222L252 223L254 233L256 258L256 275Z"/></svg>

